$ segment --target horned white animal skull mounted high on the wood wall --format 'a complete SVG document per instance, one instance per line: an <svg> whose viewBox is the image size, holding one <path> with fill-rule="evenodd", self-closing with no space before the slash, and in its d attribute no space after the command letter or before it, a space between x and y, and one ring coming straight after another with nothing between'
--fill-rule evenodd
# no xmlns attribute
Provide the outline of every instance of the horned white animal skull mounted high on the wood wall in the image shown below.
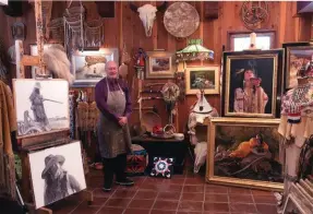
<svg viewBox="0 0 313 214"><path fill-rule="evenodd" d="M140 19L143 22L143 25L145 27L145 34L147 37L152 36L154 21L156 19L156 12L165 10L166 7L167 7L166 1L159 7L154 7L152 4L144 4L139 8L135 4L130 3L130 8L132 9L132 11L140 13Z"/></svg>

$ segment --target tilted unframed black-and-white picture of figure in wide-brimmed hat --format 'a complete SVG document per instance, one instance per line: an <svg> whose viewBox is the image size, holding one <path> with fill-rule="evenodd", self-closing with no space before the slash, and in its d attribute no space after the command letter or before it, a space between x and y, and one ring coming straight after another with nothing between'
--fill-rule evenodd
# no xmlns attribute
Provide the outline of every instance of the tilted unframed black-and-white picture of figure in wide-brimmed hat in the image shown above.
<svg viewBox="0 0 313 214"><path fill-rule="evenodd" d="M36 209L86 189L81 142L29 153Z"/></svg>

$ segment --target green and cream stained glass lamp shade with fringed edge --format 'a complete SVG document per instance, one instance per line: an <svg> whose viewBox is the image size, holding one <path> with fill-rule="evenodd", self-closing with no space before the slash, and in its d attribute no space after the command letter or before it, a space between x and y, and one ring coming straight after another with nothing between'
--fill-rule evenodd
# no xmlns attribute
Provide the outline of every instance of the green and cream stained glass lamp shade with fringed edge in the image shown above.
<svg viewBox="0 0 313 214"><path fill-rule="evenodd" d="M176 52L177 62L192 60L213 60L214 51L202 46L202 39L189 40L189 46Z"/></svg>

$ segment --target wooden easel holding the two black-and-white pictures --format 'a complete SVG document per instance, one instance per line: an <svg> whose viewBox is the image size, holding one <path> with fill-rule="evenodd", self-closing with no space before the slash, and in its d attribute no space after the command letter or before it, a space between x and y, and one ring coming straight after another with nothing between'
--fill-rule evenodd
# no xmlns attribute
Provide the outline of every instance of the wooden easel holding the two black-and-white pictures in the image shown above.
<svg viewBox="0 0 313 214"><path fill-rule="evenodd" d="M45 69L45 64L43 61L44 55L44 29L43 29L43 14L41 14L41 0L35 0L35 16L36 16L36 37L37 37L37 48L38 48L38 56L26 56L24 55L23 50L23 41L15 40L15 51L16 51L16 78L24 79L25 78L25 67L26 66L35 66L38 67L38 71L36 74L39 74L41 78L48 78ZM56 143L59 140L59 143ZM31 168L29 168L29 160L28 160L28 152L39 148L47 148L60 144L67 143L70 141L69 131L59 131L53 133L47 133L41 135L31 135L27 138L19 139L22 150L20 153L20 157L22 160L22 194L23 200L25 200L25 204L27 205L28 210L35 211L34 204L34 193L33 187L31 182ZM55 144L53 144L55 142ZM36 146L35 146L36 145ZM94 201L93 192L83 190L79 194L83 194L84 200L92 204ZM39 214L52 214L52 210L47 207L40 207L36 210L36 213Z"/></svg>

